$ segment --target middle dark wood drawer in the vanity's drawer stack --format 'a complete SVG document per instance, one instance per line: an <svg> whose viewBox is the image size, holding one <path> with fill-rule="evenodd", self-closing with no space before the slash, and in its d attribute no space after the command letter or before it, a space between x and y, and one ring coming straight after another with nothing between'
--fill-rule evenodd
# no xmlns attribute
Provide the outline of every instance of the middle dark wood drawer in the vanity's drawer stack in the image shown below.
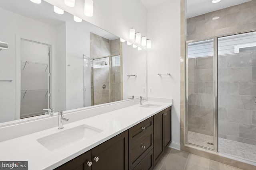
<svg viewBox="0 0 256 170"><path fill-rule="evenodd" d="M153 149L153 133L146 133L129 145L129 169L132 170Z"/></svg>

